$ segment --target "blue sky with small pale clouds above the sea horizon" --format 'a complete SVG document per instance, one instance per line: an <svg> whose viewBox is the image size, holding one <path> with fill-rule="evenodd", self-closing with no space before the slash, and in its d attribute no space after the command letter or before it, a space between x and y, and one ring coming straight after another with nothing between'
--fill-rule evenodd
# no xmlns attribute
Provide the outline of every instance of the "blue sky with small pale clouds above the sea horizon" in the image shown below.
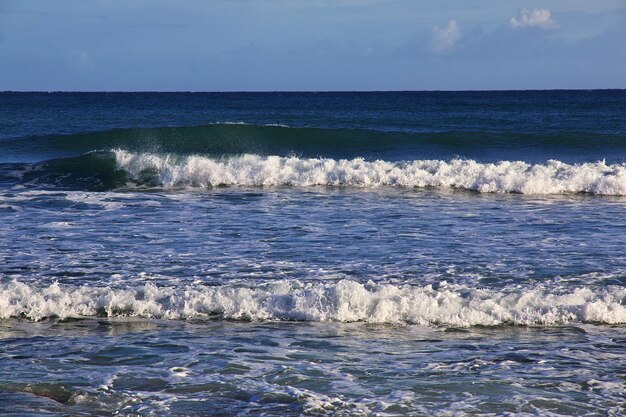
<svg viewBox="0 0 626 417"><path fill-rule="evenodd" d="M626 88L626 0L0 0L0 91Z"/></svg>

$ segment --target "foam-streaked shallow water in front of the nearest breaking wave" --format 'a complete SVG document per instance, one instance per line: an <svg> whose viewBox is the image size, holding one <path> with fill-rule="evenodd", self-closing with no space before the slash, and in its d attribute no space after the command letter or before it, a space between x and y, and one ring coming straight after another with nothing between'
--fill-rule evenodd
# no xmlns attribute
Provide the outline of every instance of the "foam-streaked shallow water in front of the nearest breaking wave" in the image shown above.
<svg viewBox="0 0 626 417"><path fill-rule="evenodd" d="M617 416L626 394L622 327L87 319L0 335L4 415Z"/></svg>

